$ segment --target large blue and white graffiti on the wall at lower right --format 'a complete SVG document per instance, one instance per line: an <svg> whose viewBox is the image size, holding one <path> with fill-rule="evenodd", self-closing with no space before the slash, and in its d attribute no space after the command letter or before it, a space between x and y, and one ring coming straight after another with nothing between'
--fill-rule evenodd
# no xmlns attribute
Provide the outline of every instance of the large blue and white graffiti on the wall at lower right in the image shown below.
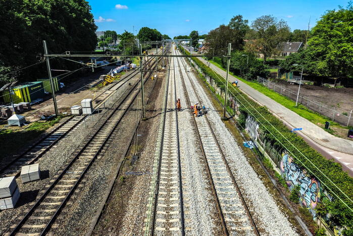
<svg viewBox="0 0 353 236"><path fill-rule="evenodd" d="M300 204L306 207L315 218L316 213L313 209L320 199L319 181L301 170L287 153L282 154L280 171L285 175L290 190L295 185L300 185Z"/></svg>

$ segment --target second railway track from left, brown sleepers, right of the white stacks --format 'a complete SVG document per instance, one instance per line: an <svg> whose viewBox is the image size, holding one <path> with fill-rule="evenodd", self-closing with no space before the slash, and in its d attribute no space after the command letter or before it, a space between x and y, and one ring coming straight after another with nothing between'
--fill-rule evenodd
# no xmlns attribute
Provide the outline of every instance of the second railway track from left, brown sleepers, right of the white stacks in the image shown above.
<svg viewBox="0 0 353 236"><path fill-rule="evenodd" d="M148 80L151 73L146 73L144 82ZM59 227L58 224L54 224L57 216L65 208L67 201L96 157L102 154L107 141L138 96L139 90L140 85L136 83L107 120L90 135L87 143L66 163L66 167L58 171L44 194L39 197L20 222L11 227L12 231L6 233L7 235L43 235L52 227Z"/></svg>

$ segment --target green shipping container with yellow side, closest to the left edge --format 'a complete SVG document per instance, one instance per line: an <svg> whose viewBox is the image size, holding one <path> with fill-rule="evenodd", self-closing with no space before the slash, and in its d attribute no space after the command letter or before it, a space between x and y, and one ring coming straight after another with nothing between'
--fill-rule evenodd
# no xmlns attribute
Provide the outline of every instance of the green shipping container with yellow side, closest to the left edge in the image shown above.
<svg viewBox="0 0 353 236"><path fill-rule="evenodd" d="M12 101L14 103L30 103L36 99L44 98L43 82L41 81L21 83L13 87L12 90L14 91L12 95ZM10 103L9 91L3 91L3 95L4 101Z"/></svg>

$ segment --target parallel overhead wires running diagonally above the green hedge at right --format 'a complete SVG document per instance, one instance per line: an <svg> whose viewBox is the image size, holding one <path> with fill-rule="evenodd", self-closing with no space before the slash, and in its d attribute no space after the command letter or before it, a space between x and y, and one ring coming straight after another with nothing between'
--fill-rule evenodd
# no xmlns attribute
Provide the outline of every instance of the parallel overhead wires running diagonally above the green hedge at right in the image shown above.
<svg viewBox="0 0 353 236"><path fill-rule="evenodd" d="M220 81L222 81L222 79L218 76L218 74L210 67L210 69L215 73L215 75L220 79ZM223 81L222 81L223 83ZM224 84L224 83L223 83ZM253 105L251 105L242 95L241 93L235 89L235 91L241 96L241 98L247 102L257 113L260 114L260 116L266 120L283 138L286 139L286 141L295 148L295 150L297 152L299 152L306 160L308 160L310 162L310 164L312 164L325 178L327 178L327 180L329 180L329 182L331 182L336 188L337 190L339 190L339 192L341 192L350 202L353 203L353 200L350 199L341 189L340 187L338 187L328 176L326 176L314 163L312 163L312 161L307 158L301 151L299 151L281 132L279 132L279 130L274 127ZM230 91L230 93L235 97L234 93L232 91ZM353 210L334 192L331 190L331 188L329 186L327 186L327 184L322 181L309 167L307 167L307 165L305 165L304 163L302 163L302 161L300 161L296 155L294 155L259 119L258 117L256 117L242 102L240 102L239 99L237 99L237 101L244 107L246 108L246 110L263 126L266 128L266 130L271 133L271 135L284 147L287 149L288 152L290 152L290 154L297 160L300 162L300 164L302 164L303 166L305 166L320 182L322 182L323 185L325 185L328 190L330 190L330 192L332 192L333 195L335 195L350 211L353 212Z"/></svg>

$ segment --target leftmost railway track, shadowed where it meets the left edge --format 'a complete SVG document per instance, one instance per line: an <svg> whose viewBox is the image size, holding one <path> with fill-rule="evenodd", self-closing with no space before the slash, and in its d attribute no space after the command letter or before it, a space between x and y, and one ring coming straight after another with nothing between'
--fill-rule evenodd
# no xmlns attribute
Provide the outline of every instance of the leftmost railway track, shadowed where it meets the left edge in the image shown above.
<svg viewBox="0 0 353 236"><path fill-rule="evenodd" d="M149 58L147 63L152 61L152 59L153 58ZM138 73L139 70L133 71L130 75L118 81L118 83L113 86L114 90L117 91ZM113 94L114 92L112 92L110 96ZM106 99L108 99L110 96L108 96ZM104 102L105 100L97 104L95 108L100 107ZM55 146L58 141L67 136L70 131L75 129L81 123L81 121L84 120L84 118L84 115L70 117L63 124L59 125L57 128L42 137L34 145L30 146L25 152L15 157L9 163L0 167L0 177L18 176L21 173L22 166L35 163L40 157L42 157L46 152L53 148L53 146Z"/></svg>

